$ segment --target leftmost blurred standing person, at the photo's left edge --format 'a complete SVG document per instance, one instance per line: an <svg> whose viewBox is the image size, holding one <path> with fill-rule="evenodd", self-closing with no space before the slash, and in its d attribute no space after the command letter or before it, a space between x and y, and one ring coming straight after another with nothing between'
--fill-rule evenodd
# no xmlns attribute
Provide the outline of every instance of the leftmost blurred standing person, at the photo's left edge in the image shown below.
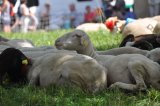
<svg viewBox="0 0 160 106"><path fill-rule="evenodd" d="M8 0L3 0L2 7L0 7L2 15L2 24L4 32L11 32L11 17L10 17L10 3Z"/></svg>

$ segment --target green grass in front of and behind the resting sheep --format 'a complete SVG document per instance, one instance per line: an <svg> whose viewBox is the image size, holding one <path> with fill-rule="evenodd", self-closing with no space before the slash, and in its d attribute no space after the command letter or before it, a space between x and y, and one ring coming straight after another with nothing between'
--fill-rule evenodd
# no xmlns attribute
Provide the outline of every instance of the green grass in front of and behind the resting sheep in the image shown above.
<svg viewBox="0 0 160 106"><path fill-rule="evenodd" d="M54 45L57 37L70 30L34 33L1 33L7 38L32 40L36 46ZM121 35L108 32L88 32L97 50L118 47ZM160 106L160 91L149 89L147 92L124 93L119 90L104 90L96 94L83 92L78 87L50 86L48 88L0 86L0 106Z"/></svg>

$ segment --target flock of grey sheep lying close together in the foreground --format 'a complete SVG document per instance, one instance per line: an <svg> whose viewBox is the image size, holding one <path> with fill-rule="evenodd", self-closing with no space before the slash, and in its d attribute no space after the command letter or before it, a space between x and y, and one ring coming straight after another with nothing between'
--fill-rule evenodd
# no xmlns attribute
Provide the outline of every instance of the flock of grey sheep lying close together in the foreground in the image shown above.
<svg viewBox="0 0 160 106"><path fill-rule="evenodd" d="M59 37L55 41L56 48L35 47L26 40L1 40L0 58L6 48L16 48L26 56L27 63L22 63L27 67L25 76L31 85L76 85L92 93L108 88L127 91L145 91L148 87L160 89L160 48L148 51L120 47L95 51L89 36L82 30ZM0 74L5 67L2 62L3 59L0 60ZM19 74L22 71L14 70Z"/></svg>

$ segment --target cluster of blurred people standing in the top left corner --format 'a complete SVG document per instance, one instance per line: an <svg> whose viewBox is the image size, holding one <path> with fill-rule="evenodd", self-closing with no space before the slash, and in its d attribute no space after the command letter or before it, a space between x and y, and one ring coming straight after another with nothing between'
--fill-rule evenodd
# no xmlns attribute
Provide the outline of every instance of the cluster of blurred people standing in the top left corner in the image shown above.
<svg viewBox="0 0 160 106"><path fill-rule="evenodd" d="M4 32L11 32L21 26L22 32L36 30L38 26L38 0L2 0L0 16Z"/></svg>

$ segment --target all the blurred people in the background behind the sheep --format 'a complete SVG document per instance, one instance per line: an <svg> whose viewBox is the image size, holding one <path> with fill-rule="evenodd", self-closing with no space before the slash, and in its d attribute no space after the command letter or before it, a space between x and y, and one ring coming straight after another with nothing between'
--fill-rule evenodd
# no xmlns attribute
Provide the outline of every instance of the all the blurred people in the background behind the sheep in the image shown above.
<svg viewBox="0 0 160 106"><path fill-rule="evenodd" d="M38 0L2 0L0 3L0 17L4 32L14 31L19 27L22 32L35 31L37 28L48 29L51 18L51 5L44 4L39 16ZM148 0L150 16L159 15L160 0ZM69 13L63 15L63 24L60 28L76 28L82 23L102 23L109 17L136 19L134 0L102 0L102 8L93 8L86 5L85 12L80 13L76 4L68 6Z"/></svg>

